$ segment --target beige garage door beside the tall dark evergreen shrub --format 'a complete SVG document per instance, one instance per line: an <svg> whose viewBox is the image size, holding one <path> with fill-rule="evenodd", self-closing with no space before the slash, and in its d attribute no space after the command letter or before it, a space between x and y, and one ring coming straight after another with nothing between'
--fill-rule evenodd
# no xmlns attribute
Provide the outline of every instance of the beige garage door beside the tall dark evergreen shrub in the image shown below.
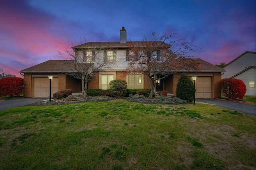
<svg viewBox="0 0 256 170"><path fill-rule="evenodd" d="M212 98L212 77L196 78L196 98Z"/></svg>

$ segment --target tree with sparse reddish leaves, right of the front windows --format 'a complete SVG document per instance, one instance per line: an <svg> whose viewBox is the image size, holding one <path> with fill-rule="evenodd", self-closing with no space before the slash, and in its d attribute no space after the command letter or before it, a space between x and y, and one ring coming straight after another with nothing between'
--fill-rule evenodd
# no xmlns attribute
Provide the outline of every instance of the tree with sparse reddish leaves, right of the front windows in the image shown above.
<svg viewBox="0 0 256 170"><path fill-rule="evenodd" d="M175 34L159 36L152 33L150 40L144 37L142 41L130 42L129 47L129 58L134 59L129 59L126 71L147 76L150 98L154 94L156 80L164 79L174 72L200 70L199 63L190 58L201 50L185 39L176 38Z"/></svg>

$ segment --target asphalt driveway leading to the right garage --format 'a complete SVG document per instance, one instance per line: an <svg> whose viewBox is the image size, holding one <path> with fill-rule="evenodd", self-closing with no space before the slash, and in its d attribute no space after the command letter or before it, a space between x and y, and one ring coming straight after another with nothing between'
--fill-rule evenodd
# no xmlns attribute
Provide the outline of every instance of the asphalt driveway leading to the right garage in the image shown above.
<svg viewBox="0 0 256 170"><path fill-rule="evenodd" d="M229 101L223 101L223 100L217 100L217 99L196 99L196 102L214 104L214 105L225 107L235 111L241 111L243 113L256 115L256 106L253 106L250 104L242 104L242 103L229 102Z"/></svg>

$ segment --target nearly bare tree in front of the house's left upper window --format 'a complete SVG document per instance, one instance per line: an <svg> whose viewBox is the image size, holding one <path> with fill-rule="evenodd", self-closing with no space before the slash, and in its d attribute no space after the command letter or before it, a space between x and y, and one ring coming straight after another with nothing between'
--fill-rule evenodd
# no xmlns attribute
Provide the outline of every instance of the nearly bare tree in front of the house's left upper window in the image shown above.
<svg viewBox="0 0 256 170"><path fill-rule="evenodd" d="M116 65L116 51L112 49L111 43L80 43L80 45L68 49L62 45L56 45L57 55L66 61L69 66L69 71L66 74L74 76L84 82L84 97L87 96L87 85L90 79L94 78L95 74L100 71L111 69ZM104 50L113 51L113 59L108 60ZM115 54L114 54L115 53ZM102 56L104 56L102 58Z"/></svg>

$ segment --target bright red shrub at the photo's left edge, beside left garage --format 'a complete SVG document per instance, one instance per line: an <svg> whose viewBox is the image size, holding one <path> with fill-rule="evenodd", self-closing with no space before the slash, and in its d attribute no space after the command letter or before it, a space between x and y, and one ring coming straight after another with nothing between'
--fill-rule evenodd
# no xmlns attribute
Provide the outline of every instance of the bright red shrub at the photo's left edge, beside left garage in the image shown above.
<svg viewBox="0 0 256 170"><path fill-rule="evenodd" d="M7 77L0 80L0 96L19 96L23 93L23 78Z"/></svg>

